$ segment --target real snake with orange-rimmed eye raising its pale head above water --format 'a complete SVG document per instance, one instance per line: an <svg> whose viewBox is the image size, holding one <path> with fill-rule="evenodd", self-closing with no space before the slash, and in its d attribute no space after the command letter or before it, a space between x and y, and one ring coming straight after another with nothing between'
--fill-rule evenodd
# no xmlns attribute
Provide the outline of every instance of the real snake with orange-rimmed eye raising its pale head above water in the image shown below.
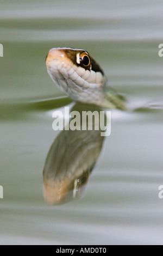
<svg viewBox="0 0 163 256"><path fill-rule="evenodd" d="M55 84L73 101L113 109L126 109L126 102L113 89L101 66L82 49L57 47L48 51L46 66Z"/></svg>

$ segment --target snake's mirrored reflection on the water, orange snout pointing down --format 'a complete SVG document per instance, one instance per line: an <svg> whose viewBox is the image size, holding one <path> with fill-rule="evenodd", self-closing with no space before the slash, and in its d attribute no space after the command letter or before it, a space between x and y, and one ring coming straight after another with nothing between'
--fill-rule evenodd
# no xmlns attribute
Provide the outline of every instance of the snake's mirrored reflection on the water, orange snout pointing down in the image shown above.
<svg viewBox="0 0 163 256"><path fill-rule="evenodd" d="M82 111L99 113L101 108L77 103L72 110L82 117ZM104 141L101 129L96 129L99 118L92 119L92 130L88 122L86 130L80 129L84 125L81 118L77 130L61 131L55 138L43 168L43 196L49 204L66 203L83 195Z"/></svg>

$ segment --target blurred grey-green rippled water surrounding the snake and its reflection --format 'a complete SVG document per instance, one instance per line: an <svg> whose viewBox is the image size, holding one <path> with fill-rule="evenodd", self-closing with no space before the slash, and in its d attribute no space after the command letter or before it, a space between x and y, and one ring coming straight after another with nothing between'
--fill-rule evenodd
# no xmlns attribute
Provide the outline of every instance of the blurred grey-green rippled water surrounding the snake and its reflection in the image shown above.
<svg viewBox="0 0 163 256"><path fill-rule="evenodd" d="M0 244L162 244L161 0L0 3ZM49 206L42 170L52 110L70 103L49 78L52 47L83 48L140 111L112 111L85 196Z"/></svg>

